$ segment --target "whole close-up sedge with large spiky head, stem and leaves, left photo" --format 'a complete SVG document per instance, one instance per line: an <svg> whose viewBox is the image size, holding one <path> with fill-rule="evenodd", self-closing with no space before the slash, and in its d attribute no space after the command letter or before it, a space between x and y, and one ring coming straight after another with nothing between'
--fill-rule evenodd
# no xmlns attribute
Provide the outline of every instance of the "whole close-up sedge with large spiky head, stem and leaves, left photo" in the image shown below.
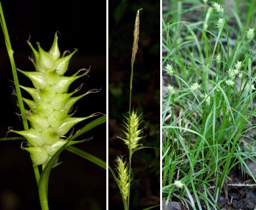
<svg viewBox="0 0 256 210"><path fill-rule="evenodd" d="M26 72L16 69L1 3L0 16L7 52L11 60L15 93L20 108L20 117L24 125L23 131L16 131L11 127L9 128L10 133L15 133L19 135L19 137L1 138L1 140L24 140L20 148L30 154L35 179L39 189L41 209L47 210L49 209L49 174L53 167L58 166L58 157L63 150L68 150L77 156L89 159L89 161L106 169L106 163L101 159L71 146L83 142L84 140L75 139L95 128L97 125L106 122L106 116L100 116L78 131L71 131L70 133L70 130L72 130L77 123L100 114L95 113L87 117L74 117L75 112L71 112L72 106L77 100L90 93L98 92L98 90L93 89L82 95L75 96L75 94L80 91L81 86L74 91L69 91L70 85L76 79L89 73L89 70L82 69L72 76L64 75L68 70L70 59L77 52L77 49L70 54L68 54L68 51L60 54L57 33L54 35L53 45L49 51L44 51L39 43L37 43L37 49L35 49L32 43L30 43L30 40L28 40L28 45L33 51L33 56L30 60L33 63L35 71ZM32 82L33 87L20 85L17 73L26 75ZM26 91L30 95L30 98L24 98L22 91ZM70 134L68 135L68 133Z"/></svg>

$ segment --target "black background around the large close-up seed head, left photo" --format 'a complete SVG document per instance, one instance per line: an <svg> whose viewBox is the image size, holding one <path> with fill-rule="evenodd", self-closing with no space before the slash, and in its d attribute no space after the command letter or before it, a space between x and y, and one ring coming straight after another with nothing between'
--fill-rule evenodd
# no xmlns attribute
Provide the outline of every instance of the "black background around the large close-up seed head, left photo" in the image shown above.
<svg viewBox="0 0 256 210"><path fill-rule="evenodd" d="M36 41L49 51L54 33L59 31L60 52L78 49L70 60L66 75L72 75L81 68L89 68L89 77L77 79L70 90L85 83L77 95L90 89L101 89L99 93L85 96L75 106L75 117L89 116L95 112L106 114L106 4L96 1L1 1L16 68L33 71L28 56L32 50L26 42L37 49ZM16 96L12 95L11 64L5 47L3 33L0 33L0 87L1 125L0 137L5 137L8 127L22 130L22 122L15 113ZM32 83L18 74L21 85L32 87ZM24 92L22 92L24 93ZM75 126L75 131L91 122L87 119ZM8 137L14 134L9 133ZM77 144L106 161L106 123L89 131L82 138L93 137L89 142ZM11 209L41 209L32 162L28 152L20 149L21 140L0 142L0 209L3 203L14 205ZM50 209L105 209L106 171L97 165L64 151L62 161L51 171L49 179ZM7 209L6 209L7 210Z"/></svg>

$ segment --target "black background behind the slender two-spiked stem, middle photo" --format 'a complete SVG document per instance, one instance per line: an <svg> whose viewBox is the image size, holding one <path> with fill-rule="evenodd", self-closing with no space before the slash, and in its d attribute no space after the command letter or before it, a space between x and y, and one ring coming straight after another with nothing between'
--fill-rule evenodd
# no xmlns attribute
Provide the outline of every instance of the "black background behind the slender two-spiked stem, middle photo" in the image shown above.
<svg viewBox="0 0 256 210"><path fill-rule="evenodd" d="M129 111L129 83L135 17L140 11L139 50L135 60L132 108L142 113L144 149L132 159L133 181L130 209L160 204L160 1L110 0L108 9L108 110L109 164L116 171L117 156L128 160L122 137L123 120ZM123 209L117 184L109 172L109 209ZM157 207L155 209L160 209Z"/></svg>

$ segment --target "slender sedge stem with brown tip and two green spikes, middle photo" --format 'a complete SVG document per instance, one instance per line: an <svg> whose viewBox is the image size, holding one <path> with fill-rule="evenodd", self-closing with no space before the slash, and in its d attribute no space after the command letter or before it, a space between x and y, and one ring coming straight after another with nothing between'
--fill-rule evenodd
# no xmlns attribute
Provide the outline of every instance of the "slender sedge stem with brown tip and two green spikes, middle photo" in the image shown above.
<svg viewBox="0 0 256 210"><path fill-rule="evenodd" d="M131 108L131 98L132 98L132 88L133 88L133 67L135 63L135 57L138 50L138 41L139 41L139 18L140 9L137 11L137 15L135 18L135 29L133 31L133 49L131 54L131 77L129 84L129 112L128 116L125 116L124 120L124 129L122 130L125 137L117 137L123 141L125 146L128 149L128 158L125 159L124 156L116 157L116 171L109 166L109 169L116 180L117 186L119 188L119 192L123 201L123 209L129 210L131 209L131 184L133 183L133 171L132 171L132 157L135 152L138 150L142 150L144 148L152 148L149 146L142 146L140 140L144 138L142 136L143 128L140 128L140 124L142 123L142 114L138 114L135 109ZM156 149L156 148L154 148ZM154 207L159 207L159 205L148 207L147 209L152 209Z"/></svg>

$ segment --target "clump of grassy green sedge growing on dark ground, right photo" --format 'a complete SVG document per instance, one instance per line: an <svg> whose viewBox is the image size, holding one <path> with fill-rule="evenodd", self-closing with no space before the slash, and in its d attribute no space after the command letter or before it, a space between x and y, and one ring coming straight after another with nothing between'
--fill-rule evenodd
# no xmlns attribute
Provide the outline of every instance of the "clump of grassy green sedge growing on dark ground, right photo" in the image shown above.
<svg viewBox="0 0 256 210"><path fill-rule="evenodd" d="M221 209L232 170L256 183L247 164L256 162L255 5L244 5L246 22L217 2L170 5L163 11L164 205Z"/></svg>

